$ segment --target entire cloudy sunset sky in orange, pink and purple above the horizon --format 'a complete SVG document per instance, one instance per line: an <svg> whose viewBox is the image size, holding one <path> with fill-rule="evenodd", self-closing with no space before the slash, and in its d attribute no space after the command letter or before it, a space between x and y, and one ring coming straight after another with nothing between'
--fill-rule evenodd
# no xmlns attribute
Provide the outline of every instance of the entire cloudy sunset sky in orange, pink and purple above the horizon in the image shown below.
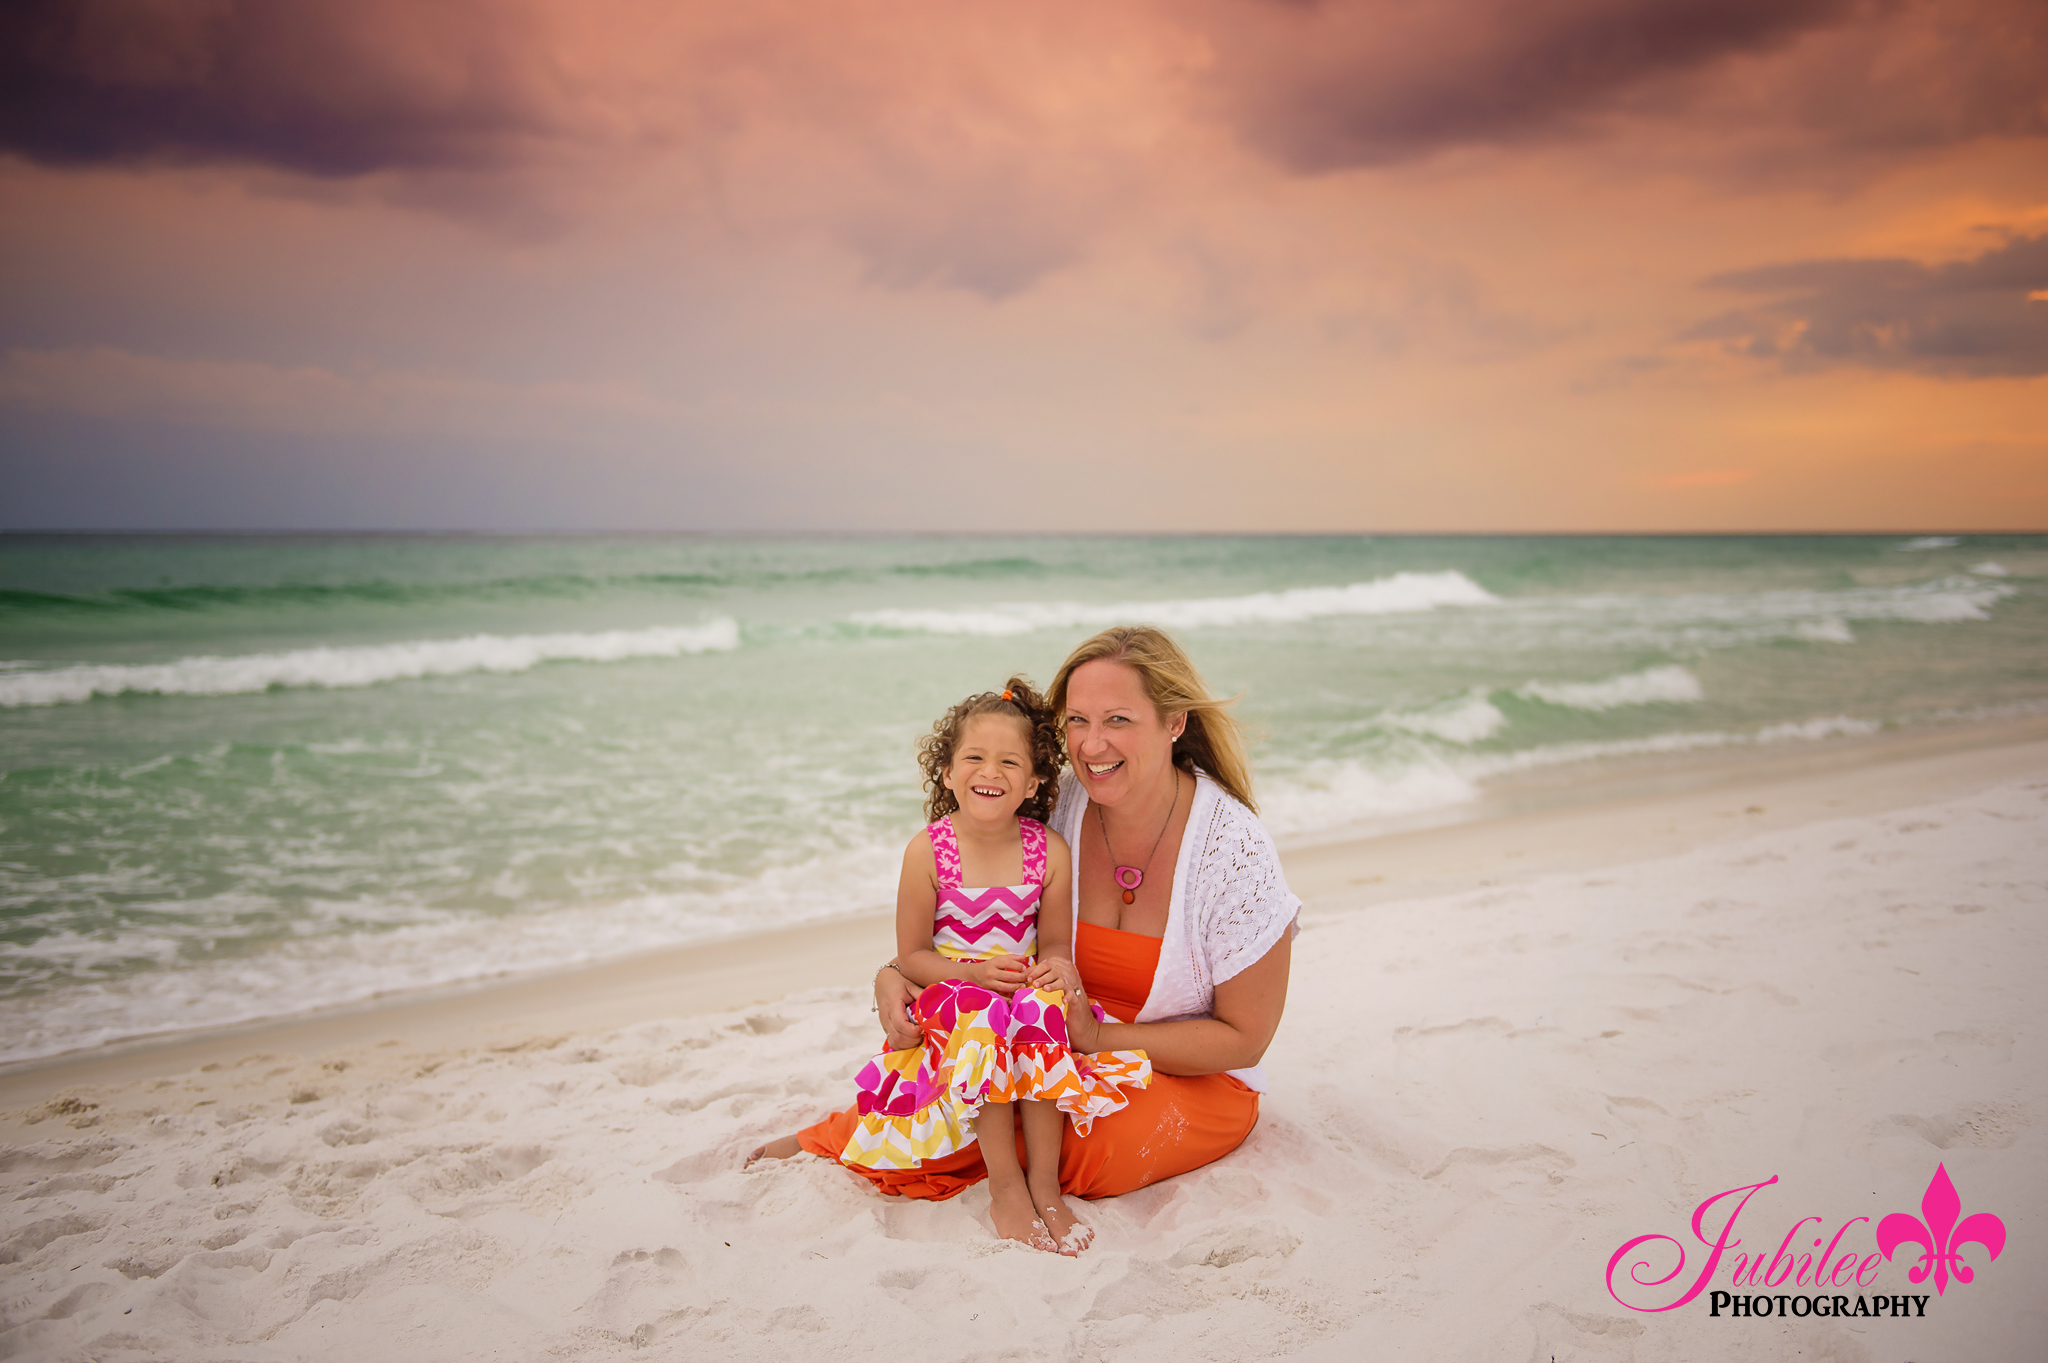
<svg viewBox="0 0 2048 1363"><path fill-rule="evenodd" d="M2040 0L16 0L0 528L2048 528Z"/></svg>

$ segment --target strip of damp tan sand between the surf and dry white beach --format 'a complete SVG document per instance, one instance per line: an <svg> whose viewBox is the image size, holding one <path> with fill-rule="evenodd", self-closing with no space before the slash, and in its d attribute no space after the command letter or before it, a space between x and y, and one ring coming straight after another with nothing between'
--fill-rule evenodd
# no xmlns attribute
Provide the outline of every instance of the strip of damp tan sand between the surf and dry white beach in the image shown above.
<svg viewBox="0 0 2048 1363"><path fill-rule="evenodd" d="M1313 923L1366 905L1622 866L1817 819L1931 804L2034 772L2048 772L2048 716L1782 749L1620 757L1597 767L1497 778L1481 800L1407 827L1337 829L1282 841L1280 851L1305 903L1305 923ZM1374 874L1360 876L1362 862ZM858 991L872 964L889 954L889 939L891 913L877 907L561 970L109 1042L0 1066L0 1111L68 1089L231 1064L252 1052L317 1058L377 1044L502 1048L537 1036L723 1013L805 991ZM0 1115L0 1130L18 1132L14 1115Z"/></svg>

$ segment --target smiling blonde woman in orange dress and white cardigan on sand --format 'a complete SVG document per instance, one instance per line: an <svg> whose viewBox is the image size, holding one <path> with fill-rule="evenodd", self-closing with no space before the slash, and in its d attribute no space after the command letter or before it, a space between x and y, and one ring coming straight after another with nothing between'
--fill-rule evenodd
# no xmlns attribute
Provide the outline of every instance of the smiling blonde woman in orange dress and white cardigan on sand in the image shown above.
<svg viewBox="0 0 2048 1363"><path fill-rule="evenodd" d="M1237 720L1165 632L1096 634L1061 665L1051 702L1073 761L1053 815L1075 853L1073 962L1085 997L1124 1019L1098 1023L1075 1007L1069 1036L1079 1052L1143 1050L1153 1064L1128 1107L1061 1142L1061 1189L1114 1197L1223 1158L1251 1134L1300 900L1253 812ZM915 993L889 966L874 976L891 1046L920 1044ZM834 1113L760 1154L838 1158L854 1119ZM930 1199L985 1177L977 1146L852 1173Z"/></svg>

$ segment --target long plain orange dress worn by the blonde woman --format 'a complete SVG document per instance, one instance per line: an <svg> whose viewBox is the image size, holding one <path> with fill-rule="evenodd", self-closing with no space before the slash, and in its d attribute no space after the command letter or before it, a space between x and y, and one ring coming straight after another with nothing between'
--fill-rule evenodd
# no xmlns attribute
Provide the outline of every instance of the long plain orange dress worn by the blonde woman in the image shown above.
<svg viewBox="0 0 2048 1363"><path fill-rule="evenodd" d="M1159 968L1159 937L1081 923L1073 964L1087 995L1110 1017L1133 1019L1151 995ZM860 1111L836 1111L797 1132L811 1154L838 1160ZM1219 1160L1245 1142L1260 1119L1260 1095L1229 1074L1159 1074L1130 1095L1122 1111L1098 1117L1087 1136L1067 1128L1059 1144L1059 1187L1075 1197L1116 1197L1147 1183ZM1024 1136L1018 1134L1018 1160ZM981 1148L967 1146L918 1169L846 1167L891 1197L944 1201L989 1177Z"/></svg>

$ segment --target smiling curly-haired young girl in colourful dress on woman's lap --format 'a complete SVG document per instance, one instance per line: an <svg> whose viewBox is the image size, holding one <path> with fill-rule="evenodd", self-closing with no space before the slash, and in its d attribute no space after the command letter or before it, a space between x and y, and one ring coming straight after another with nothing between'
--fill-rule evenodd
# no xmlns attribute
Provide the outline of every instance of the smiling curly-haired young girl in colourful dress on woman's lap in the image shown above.
<svg viewBox="0 0 2048 1363"><path fill-rule="evenodd" d="M913 1009L924 1044L860 1070L860 1122L840 1160L913 1169L979 1130L997 1234L1073 1255L1094 1232L1059 1195L1065 1122L1087 1134L1128 1103L1122 1089L1151 1083L1151 1062L1135 1050L1067 1050L1065 993L1053 986L1079 978L1071 858L1044 827L1065 761L1057 716L1012 677L946 710L918 749L930 827L903 851L893 968L924 986ZM1044 917L1040 903L1053 907Z"/></svg>

